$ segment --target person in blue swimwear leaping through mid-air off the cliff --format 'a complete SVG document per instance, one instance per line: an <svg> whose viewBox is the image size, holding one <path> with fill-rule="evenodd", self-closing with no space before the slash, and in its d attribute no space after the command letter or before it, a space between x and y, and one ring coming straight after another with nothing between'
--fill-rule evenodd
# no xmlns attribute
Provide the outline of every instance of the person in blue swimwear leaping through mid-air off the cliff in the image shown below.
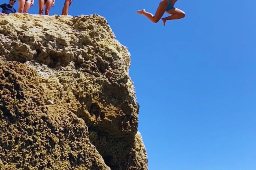
<svg viewBox="0 0 256 170"><path fill-rule="evenodd" d="M165 12L168 14L171 14L171 16L169 16L169 17L162 18L162 21L163 21L163 24L165 27L166 21L178 20L178 19L185 17L185 12L183 12L182 10L180 10L178 8L174 8L174 4L177 1L178 0L163 0L163 1L161 1L156 10L155 16L149 12L146 12L145 9L137 11L137 14L142 14L142 15L146 16L153 23L157 23L162 18L162 16L164 15Z"/></svg>

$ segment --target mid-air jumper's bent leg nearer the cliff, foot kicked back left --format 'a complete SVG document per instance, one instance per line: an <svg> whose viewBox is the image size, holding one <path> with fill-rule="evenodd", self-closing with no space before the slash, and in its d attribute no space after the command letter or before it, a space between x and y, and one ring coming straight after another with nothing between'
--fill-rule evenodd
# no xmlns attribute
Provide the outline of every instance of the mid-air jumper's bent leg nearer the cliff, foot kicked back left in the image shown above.
<svg viewBox="0 0 256 170"><path fill-rule="evenodd" d="M156 10L155 16L149 12L146 12L144 9L137 11L137 14L142 14L142 15L146 16L153 23L157 23L164 15L164 12L165 12L167 6L168 6L168 2L166 0L160 2L159 6Z"/></svg>

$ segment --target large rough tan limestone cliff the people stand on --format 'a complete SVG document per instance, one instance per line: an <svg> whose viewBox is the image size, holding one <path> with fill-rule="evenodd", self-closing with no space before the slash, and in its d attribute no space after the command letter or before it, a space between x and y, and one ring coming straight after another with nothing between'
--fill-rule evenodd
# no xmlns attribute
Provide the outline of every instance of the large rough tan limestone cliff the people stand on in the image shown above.
<svg viewBox="0 0 256 170"><path fill-rule="evenodd" d="M147 170L129 66L98 15L0 17L0 169Z"/></svg>

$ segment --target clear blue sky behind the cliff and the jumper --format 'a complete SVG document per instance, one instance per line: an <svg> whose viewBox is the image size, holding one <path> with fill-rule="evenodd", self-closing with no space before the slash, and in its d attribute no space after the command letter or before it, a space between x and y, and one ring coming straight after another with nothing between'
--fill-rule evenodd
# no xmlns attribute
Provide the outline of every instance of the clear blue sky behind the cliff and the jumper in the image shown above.
<svg viewBox="0 0 256 170"><path fill-rule="evenodd" d="M136 14L159 2L74 0L69 11L104 16L128 47L149 169L255 170L256 2L178 0L186 17L166 28Z"/></svg>

